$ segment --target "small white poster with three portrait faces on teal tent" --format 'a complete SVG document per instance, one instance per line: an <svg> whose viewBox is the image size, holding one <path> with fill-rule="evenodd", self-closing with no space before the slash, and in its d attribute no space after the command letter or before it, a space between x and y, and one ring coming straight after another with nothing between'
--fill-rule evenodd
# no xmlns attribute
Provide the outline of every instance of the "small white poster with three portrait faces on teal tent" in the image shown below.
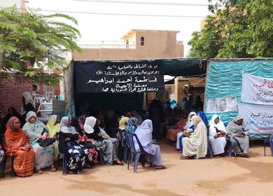
<svg viewBox="0 0 273 196"><path fill-rule="evenodd" d="M235 96L207 99L206 113L222 113L237 111L237 98Z"/></svg>

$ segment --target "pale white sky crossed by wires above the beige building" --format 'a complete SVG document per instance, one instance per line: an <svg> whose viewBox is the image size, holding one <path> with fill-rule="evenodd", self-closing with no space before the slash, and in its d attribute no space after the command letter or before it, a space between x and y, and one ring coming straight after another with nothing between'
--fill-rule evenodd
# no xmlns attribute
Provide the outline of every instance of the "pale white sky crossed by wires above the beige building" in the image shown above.
<svg viewBox="0 0 273 196"><path fill-rule="evenodd" d="M28 8L41 10L119 13L119 14L145 14L145 15L183 15L206 16L209 14L207 6L181 6L181 5L147 5L147 4L121 4L87 2L79 0L28 0ZM108 0L118 2L156 2L207 5L207 0ZM52 14L52 12L42 12ZM145 30L173 30L180 31L177 40L184 43L184 57L188 54L190 46L187 41L191 39L194 31L200 31L201 17L155 17L155 16L117 16L68 13L78 20L77 29L81 33L78 39L80 44L99 43L99 41L122 41L120 38L131 29ZM92 42L90 42L92 41ZM95 41L95 42L93 42ZM150 40L149 40L150 41Z"/></svg>

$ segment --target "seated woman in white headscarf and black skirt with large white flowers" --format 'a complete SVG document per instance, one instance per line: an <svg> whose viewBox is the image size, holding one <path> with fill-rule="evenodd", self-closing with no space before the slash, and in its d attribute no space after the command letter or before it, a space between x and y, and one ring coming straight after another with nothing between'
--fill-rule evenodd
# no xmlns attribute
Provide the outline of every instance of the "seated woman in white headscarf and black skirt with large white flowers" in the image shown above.
<svg viewBox="0 0 273 196"><path fill-rule="evenodd" d="M78 132L71 127L71 120L68 116L60 120L59 151L66 153L70 173L81 174L86 163L88 149L78 143Z"/></svg>

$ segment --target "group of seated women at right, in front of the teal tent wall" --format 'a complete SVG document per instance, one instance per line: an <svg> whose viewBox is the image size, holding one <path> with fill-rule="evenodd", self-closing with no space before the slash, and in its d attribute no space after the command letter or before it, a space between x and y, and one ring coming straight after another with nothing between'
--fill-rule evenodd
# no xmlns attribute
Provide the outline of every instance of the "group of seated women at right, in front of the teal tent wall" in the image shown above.
<svg viewBox="0 0 273 196"><path fill-rule="evenodd" d="M182 153L181 159L204 158L207 155L208 144L211 146L213 156L224 157L227 141L232 144L234 156L249 158L249 129L242 117L236 116L225 127L218 115L213 115L208 121L203 111L190 112L187 102L187 98L184 97L181 108L183 115L176 115L178 120L171 126L169 124L166 132L166 138L172 140L177 150ZM178 110L177 104L169 106L169 110ZM187 118L185 113L188 113ZM174 119L174 117L167 119L170 121L170 118Z"/></svg>

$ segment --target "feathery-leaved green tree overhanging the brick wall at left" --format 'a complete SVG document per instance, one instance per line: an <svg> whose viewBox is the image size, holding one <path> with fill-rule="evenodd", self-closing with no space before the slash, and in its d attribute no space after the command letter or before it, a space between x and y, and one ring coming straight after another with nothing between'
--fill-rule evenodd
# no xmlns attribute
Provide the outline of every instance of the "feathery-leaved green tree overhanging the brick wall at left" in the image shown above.
<svg viewBox="0 0 273 196"><path fill-rule="evenodd" d="M59 20L56 20L56 19ZM54 20L55 19L55 20ZM15 6L0 10L1 77L56 84L60 76L45 69L66 69L66 55L81 52L75 40L77 20L66 14L42 15L37 10L21 13Z"/></svg>

